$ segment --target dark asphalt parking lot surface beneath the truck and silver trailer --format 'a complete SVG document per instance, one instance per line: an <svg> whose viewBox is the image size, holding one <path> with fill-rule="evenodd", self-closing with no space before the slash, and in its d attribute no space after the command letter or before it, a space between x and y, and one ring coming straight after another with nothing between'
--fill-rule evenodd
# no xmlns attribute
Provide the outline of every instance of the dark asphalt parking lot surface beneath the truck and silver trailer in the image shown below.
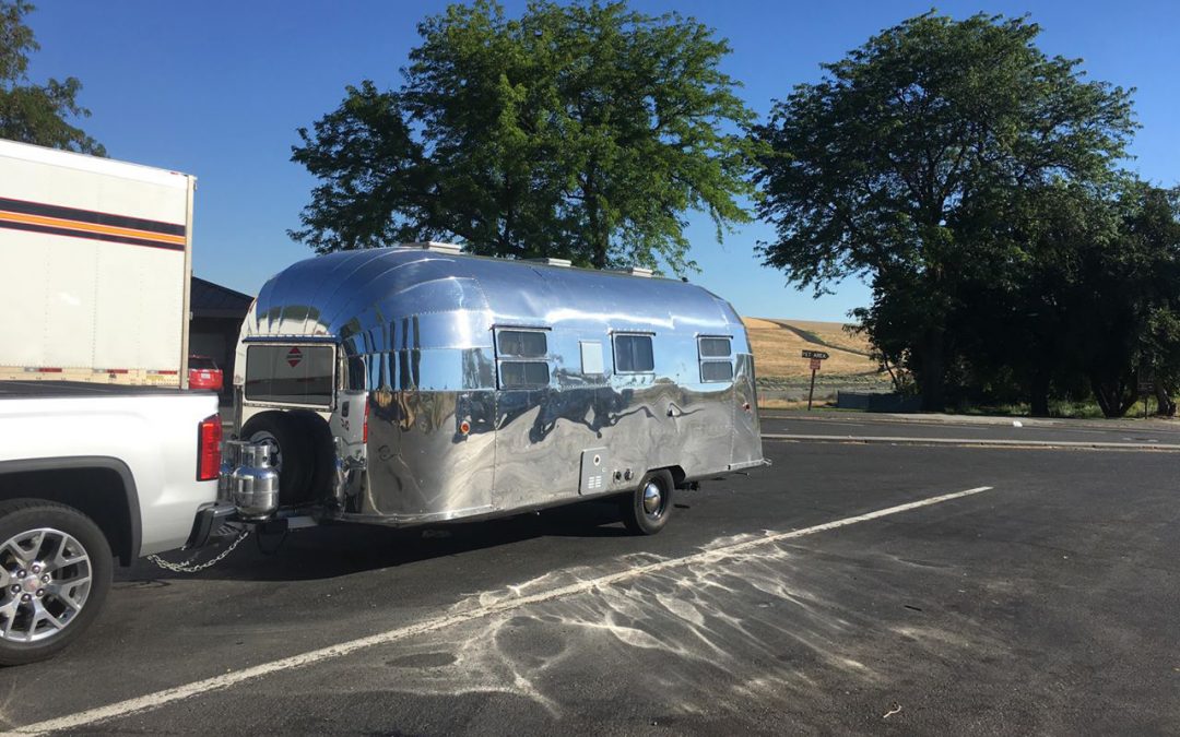
<svg viewBox="0 0 1180 737"><path fill-rule="evenodd" d="M0 725L1175 732L1180 433L773 412L763 433L772 467L680 494L653 538L590 505L140 561L64 656L0 671ZM937 442L981 436L1050 445Z"/></svg>

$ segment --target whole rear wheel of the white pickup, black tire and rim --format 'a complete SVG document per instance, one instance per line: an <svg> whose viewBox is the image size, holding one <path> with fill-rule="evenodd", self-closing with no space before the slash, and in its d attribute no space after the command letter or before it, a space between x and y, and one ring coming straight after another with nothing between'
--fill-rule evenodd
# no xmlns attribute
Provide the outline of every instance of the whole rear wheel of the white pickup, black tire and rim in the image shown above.
<svg viewBox="0 0 1180 737"><path fill-rule="evenodd" d="M54 656L98 617L111 546L88 516L39 499L0 502L0 665Z"/></svg>

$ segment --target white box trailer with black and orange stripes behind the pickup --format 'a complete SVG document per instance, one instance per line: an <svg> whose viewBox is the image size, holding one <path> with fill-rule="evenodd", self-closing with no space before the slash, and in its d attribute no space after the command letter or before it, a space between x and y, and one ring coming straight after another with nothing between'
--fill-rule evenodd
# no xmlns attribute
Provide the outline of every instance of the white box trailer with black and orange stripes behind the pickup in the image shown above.
<svg viewBox="0 0 1180 737"><path fill-rule="evenodd" d="M186 388L195 187L0 140L0 380Z"/></svg>

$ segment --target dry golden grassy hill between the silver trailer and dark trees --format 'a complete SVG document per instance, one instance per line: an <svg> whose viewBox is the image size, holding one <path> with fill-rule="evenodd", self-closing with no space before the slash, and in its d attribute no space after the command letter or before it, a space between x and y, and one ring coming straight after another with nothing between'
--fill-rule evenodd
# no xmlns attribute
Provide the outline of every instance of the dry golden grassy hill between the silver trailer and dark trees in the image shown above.
<svg viewBox="0 0 1180 737"><path fill-rule="evenodd" d="M868 357L868 341L850 335L838 322L804 320L766 320L743 317L754 349L759 376L802 376L811 374L804 349L822 350L831 357L820 369L824 374L876 374L877 362Z"/></svg>

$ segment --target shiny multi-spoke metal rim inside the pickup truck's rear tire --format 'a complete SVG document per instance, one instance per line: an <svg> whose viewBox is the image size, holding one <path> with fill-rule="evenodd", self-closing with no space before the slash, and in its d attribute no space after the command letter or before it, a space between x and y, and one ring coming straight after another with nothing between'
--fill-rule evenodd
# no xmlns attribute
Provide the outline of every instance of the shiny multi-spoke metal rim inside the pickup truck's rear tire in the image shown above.
<svg viewBox="0 0 1180 737"><path fill-rule="evenodd" d="M0 545L0 640L48 639L78 617L90 597L90 554L52 527L18 533Z"/></svg>

